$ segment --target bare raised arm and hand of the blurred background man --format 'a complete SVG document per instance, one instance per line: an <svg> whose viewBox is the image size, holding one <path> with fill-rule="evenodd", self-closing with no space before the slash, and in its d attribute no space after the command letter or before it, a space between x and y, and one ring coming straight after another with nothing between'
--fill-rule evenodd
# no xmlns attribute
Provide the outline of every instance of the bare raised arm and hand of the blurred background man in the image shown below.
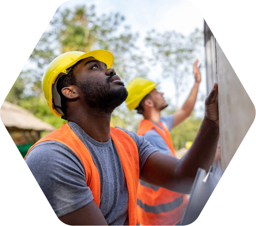
<svg viewBox="0 0 256 226"><path fill-rule="evenodd" d="M186 117L189 117L192 110L194 109L199 83L201 82L200 66L197 67L197 63L198 60L196 60L194 64L195 85L192 88L189 97L187 98L181 109L174 112L174 123L172 127L177 126L184 119L186 119Z"/></svg>

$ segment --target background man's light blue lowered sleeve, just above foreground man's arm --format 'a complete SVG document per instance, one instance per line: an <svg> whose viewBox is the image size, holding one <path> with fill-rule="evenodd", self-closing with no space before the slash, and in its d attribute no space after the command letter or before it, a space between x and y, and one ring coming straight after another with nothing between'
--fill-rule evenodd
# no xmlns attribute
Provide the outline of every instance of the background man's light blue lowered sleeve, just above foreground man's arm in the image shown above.
<svg viewBox="0 0 256 226"><path fill-rule="evenodd" d="M171 152L164 139L154 128L146 132L144 134L144 137L147 141L150 142L151 145L153 145L157 150L161 151L162 153L169 154Z"/></svg>

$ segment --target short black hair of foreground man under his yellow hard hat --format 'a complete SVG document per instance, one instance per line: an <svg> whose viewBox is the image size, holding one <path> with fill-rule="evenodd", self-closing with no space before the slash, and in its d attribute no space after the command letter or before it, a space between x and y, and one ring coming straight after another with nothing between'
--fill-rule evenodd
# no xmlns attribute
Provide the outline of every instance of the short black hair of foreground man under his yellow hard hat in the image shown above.
<svg viewBox="0 0 256 226"><path fill-rule="evenodd" d="M72 67L72 69L69 71L69 74L67 75L62 75L56 85L57 92L60 95L60 100L61 100L61 111L63 112L64 115L61 116L61 119L67 120L67 97L65 97L61 90L64 87L76 85L76 77L74 75L74 69L75 66Z"/></svg>

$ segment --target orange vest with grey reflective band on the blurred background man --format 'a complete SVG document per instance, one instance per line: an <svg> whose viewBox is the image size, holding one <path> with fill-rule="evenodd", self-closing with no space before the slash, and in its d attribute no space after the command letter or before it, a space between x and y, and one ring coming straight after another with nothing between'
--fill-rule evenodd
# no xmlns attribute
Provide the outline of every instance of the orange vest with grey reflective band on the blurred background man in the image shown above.
<svg viewBox="0 0 256 226"><path fill-rule="evenodd" d="M159 123L165 133L149 120L142 120L137 134L143 136L155 129L175 155L174 146L168 129ZM158 187L157 187L158 188ZM137 209L141 225L176 225L183 217L183 208L187 206L185 195L159 187L155 190L145 182L139 182Z"/></svg>

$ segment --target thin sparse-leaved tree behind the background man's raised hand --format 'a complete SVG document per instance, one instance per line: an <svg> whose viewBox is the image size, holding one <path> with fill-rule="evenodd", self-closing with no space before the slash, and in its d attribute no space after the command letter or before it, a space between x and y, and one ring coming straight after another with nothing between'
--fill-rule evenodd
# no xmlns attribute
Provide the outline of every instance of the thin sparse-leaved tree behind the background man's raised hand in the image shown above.
<svg viewBox="0 0 256 226"><path fill-rule="evenodd" d="M198 57L200 47L203 46L203 33L195 29L190 35L185 36L176 31L166 31L161 34L151 30L145 41L146 46L152 50L154 61L162 65L162 77L172 77L177 109L180 94L186 87L187 75L192 72L191 65L195 56Z"/></svg>

